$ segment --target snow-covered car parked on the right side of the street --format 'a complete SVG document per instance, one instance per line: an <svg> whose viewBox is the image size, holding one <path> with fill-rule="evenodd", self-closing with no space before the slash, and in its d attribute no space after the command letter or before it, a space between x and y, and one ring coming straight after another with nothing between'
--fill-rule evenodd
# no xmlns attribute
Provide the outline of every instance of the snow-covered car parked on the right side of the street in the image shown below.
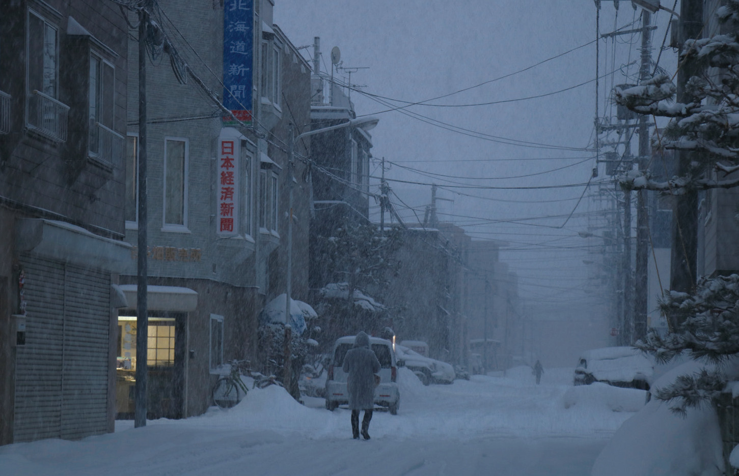
<svg viewBox="0 0 739 476"><path fill-rule="evenodd" d="M575 368L574 384L603 382L615 387L649 390L654 360L633 347L605 347L585 351Z"/></svg>

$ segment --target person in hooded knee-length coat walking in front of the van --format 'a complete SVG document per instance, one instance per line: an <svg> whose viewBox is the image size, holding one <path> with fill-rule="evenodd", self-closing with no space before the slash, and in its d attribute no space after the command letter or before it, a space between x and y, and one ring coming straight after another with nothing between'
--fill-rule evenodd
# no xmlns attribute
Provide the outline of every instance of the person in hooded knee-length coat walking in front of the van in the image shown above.
<svg viewBox="0 0 739 476"><path fill-rule="evenodd" d="M347 373L347 390L349 391L349 409L352 410L352 435L359 438L359 412L364 410L362 418L362 436L369 440L369 421L372 420L372 409L375 407L375 373L380 371L380 361L369 348L369 336L364 332L357 334L354 348L344 356L344 372Z"/></svg>

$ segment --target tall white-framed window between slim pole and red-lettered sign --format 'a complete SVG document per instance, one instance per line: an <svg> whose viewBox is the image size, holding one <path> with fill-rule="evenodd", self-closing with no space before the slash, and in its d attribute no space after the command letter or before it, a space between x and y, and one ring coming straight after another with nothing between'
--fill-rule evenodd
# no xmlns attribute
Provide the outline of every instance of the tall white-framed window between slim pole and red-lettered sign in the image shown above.
<svg viewBox="0 0 739 476"><path fill-rule="evenodd" d="M188 142L165 139L164 226L169 231L187 228ZM174 225L174 227L172 227Z"/></svg>

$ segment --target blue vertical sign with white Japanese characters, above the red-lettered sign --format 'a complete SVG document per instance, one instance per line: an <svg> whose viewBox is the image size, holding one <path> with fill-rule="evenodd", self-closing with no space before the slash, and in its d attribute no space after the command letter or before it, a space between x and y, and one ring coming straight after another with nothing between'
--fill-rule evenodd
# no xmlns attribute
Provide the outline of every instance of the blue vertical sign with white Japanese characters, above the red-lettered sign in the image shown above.
<svg viewBox="0 0 739 476"><path fill-rule="evenodd" d="M227 0L223 6L223 104L245 123L251 123L253 57L254 1ZM223 120L234 124L231 117Z"/></svg>

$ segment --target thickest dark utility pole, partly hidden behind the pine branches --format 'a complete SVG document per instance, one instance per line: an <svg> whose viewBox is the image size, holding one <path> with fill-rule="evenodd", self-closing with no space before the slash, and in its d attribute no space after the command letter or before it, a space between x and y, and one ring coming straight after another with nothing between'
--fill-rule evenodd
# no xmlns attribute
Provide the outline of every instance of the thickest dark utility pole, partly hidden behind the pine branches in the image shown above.
<svg viewBox="0 0 739 476"><path fill-rule="evenodd" d="M678 46L681 52L685 41L697 39L703 30L703 0L682 0L678 21ZM701 68L695 61L684 61L678 68L678 103L686 103L689 96L685 91L687 80L699 75ZM677 175L690 173L692 153L678 151ZM672 252L670 255L670 289L691 292L695 287L696 261L698 257L698 193L686 189L675 196L672 208ZM668 316L668 324L674 329L677 317Z"/></svg>

